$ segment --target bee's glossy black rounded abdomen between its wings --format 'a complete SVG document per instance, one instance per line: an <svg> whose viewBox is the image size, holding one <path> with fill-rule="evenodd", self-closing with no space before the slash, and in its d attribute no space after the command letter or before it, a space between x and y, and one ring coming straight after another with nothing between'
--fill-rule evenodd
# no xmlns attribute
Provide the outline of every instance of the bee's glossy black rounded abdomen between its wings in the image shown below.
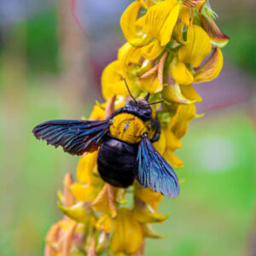
<svg viewBox="0 0 256 256"><path fill-rule="evenodd" d="M97 164L102 179L115 187L126 188L134 181L137 145L105 138L99 150Z"/></svg>

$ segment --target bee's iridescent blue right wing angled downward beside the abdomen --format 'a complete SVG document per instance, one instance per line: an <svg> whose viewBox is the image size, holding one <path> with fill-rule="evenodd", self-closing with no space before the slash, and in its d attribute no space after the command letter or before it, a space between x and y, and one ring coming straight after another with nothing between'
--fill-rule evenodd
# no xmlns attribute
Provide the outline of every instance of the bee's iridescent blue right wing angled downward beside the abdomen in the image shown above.
<svg viewBox="0 0 256 256"><path fill-rule="evenodd" d="M156 151L148 137L143 137L137 153L136 176L144 188L152 188L168 197L179 194L179 183L175 172Z"/></svg>

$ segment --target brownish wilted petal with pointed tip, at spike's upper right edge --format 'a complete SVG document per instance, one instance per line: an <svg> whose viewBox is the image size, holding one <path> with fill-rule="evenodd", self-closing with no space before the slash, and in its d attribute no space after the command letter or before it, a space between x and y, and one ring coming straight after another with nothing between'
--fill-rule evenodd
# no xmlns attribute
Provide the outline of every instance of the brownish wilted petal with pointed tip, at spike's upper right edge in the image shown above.
<svg viewBox="0 0 256 256"><path fill-rule="evenodd" d="M223 43L223 47L225 45L224 43L227 44L229 42L230 37L225 35L224 32L218 28L212 17L208 16L206 18L205 16L201 15L201 26L207 32L212 41Z"/></svg>

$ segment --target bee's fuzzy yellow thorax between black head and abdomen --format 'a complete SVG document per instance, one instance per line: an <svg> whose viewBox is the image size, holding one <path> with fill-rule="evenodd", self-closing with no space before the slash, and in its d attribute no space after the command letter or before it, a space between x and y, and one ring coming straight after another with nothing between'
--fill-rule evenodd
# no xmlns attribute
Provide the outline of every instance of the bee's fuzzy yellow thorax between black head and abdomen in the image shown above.
<svg viewBox="0 0 256 256"><path fill-rule="evenodd" d="M119 113L113 117L110 134L125 143L139 143L143 131L148 131L148 124L149 122L143 122L142 119L131 113Z"/></svg>

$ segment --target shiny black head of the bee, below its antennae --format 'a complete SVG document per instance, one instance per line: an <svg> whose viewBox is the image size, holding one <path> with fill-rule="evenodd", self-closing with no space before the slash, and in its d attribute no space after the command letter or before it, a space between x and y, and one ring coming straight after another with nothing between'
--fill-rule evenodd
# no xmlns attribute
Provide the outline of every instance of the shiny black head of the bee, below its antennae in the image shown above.
<svg viewBox="0 0 256 256"><path fill-rule="evenodd" d="M136 100L136 102L131 101L125 104L123 108L125 112L132 113L143 121L148 121L152 115L152 109L148 106L146 100Z"/></svg>

